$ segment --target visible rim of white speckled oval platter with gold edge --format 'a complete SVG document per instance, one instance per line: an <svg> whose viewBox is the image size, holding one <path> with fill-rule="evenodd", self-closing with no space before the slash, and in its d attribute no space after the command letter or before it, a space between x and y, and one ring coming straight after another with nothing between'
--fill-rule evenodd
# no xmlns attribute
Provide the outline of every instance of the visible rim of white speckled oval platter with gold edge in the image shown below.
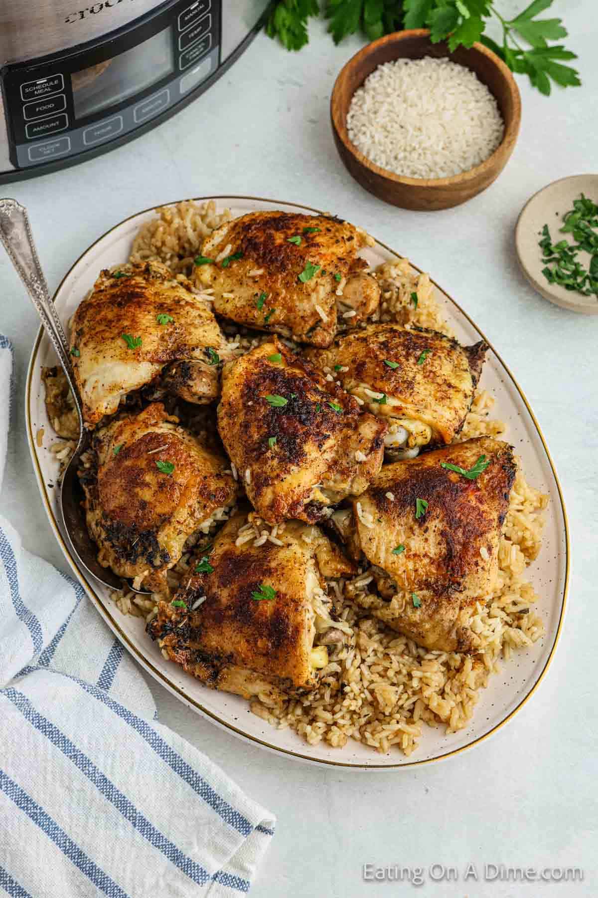
<svg viewBox="0 0 598 898"><path fill-rule="evenodd" d="M209 198L199 198L204 199ZM272 208L316 212L316 209L269 199L213 199L221 209L230 207L235 216ZM147 209L127 218L100 237L74 263L55 295L56 308L63 321L67 321L74 313L82 297L93 286L100 269L126 260L134 235L154 215L153 209ZM374 265L396 257L394 251L378 242L365 255L370 264ZM457 339L472 343L484 336L459 305L436 284L435 295L447 321L455 330ZM30 358L25 413L33 467L56 539L73 568L74 575L81 581L108 627L158 682L199 714L240 738L291 758L353 769L388 770L438 761L479 744L513 718L532 696L550 665L563 625L569 568L567 515L559 480L533 411L514 376L492 348L484 366L481 387L488 389L496 398L493 417L507 422L505 438L515 445L516 453L521 456L527 480L550 495L542 551L527 571L527 577L541 596L537 611L542 615L546 633L530 649L516 652L508 663L501 665L501 673L490 678L488 689L481 691L480 701L469 726L451 735L446 735L443 727L432 729L424 726L419 748L409 758L398 749L388 754L379 754L354 740L350 740L343 749L334 749L324 743L308 745L290 729L275 729L252 714L245 700L225 692L206 689L178 670L176 665L165 661L159 647L146 636L143 619L121 614L110 600L105 587L77 568L65 533L58 523L56 489L49 486L56 482L57 471L54 456L49 451L54 437L44 405L41 368L43 365L55 364L56 357L49 340L40 330ZM40 447L35 439L39 427L45 428L43 445Z"/></svg>

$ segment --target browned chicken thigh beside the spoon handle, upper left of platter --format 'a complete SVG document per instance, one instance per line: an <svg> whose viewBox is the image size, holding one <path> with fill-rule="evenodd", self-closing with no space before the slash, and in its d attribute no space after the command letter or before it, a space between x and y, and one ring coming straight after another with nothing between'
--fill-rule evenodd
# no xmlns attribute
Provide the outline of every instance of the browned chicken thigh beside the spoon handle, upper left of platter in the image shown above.
<svg viewBox="0 0 598 898"><path fill-rule="evenodd" d="M114 414L128 392L173 361L195 360L204 372L195 399L185 398L212 401L217 357L227 350L212 309L161 262L102 271L73 316L71 361L87 427Z"/></svg>

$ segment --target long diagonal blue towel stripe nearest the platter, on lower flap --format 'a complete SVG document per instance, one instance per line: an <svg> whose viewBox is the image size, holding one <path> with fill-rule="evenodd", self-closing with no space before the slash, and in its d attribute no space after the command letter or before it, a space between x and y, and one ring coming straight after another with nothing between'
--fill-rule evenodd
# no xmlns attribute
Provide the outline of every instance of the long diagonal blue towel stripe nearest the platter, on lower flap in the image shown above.
<svg viewBox="0 0 598 898"><path fill-rule="evenodd" d="M27 667L23 667L21 674L29 674L36 670L47 670L47 668L28 665ZM181 779L184 779L187 785L190 786L200 798L203 798L206 804L212 807L212 810L215 811L216 814L219 814L225 823L229 823L233 829L244 836L253 832L254 827L249 823L247 818L239 811L235 810L234 807L231 807L227 801L224 801L224 799L214 791L212 786L205 781L201 774L190 767L189 764L187 764L187 762L184 761L180 755L164 741L164 739L162 739L160 734L150 726L147 720L136 717L136 715L126 709L123 705L120 705L117 701L111 699L105 691L98 689L97 686L91 686L91 683L80 680L79 677L75 677L72 674L58 674L57 672L56 675L68 677L69 680L78 683L84 691L89 692L95 699L101 701L107 708L112 710L117 717L124 720L129 726L132 726L133 729L143 737L145 742L152 747L154 752L159 755L162 761L167 763L171 770L178 773L178 776Z"/></svg>

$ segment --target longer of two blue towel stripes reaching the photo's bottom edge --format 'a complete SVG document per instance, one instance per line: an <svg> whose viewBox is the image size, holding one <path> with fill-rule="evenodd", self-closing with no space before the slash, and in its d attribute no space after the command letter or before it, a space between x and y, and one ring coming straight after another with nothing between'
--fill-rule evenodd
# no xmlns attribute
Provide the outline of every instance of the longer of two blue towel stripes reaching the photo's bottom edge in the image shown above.
<svg viewBox="0 0 598 898"><path fill-rule="evenodd" d="M100 892L103 892L107 898L129 898L120 885L117 885L91 858L88 858L85 852L56 823L56 820L43 807L39 806L13 779L4 773L4 770L0 770L0 789L22 810L23 814L27 814L32 823L35 823L42 832L46 833L48 839L54 842L56 847L65 855L65 858L68 858L74 864L74 867L81 870L82 874L87 876L91 883L100 889Z"/></svg>

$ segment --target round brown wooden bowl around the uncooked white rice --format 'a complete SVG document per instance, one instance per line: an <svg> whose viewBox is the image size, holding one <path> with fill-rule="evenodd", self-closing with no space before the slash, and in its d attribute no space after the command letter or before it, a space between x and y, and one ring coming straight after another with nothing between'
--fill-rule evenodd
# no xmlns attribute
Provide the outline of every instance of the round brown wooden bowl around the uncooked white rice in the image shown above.
<svg viewBox="0 0 598 898"><path fill-rule="evenodd" d="M351 144L347 133L347 113L351 98L377 66L394 59L448 57L461 66L471 68L498 102L505 121L502 143L481 165L451 178L403 178L371 163ZM521 97L515 79L504 62L482 44L471 49L459 47L451 53L446 43L433 44L429 31L397 31L374 40L352 57L334 84L330 101L334 141L347 170L362 187L386 203L403 209L432 211L459 206L481 193L507 164L516 144L521 122Z"/></svg>

